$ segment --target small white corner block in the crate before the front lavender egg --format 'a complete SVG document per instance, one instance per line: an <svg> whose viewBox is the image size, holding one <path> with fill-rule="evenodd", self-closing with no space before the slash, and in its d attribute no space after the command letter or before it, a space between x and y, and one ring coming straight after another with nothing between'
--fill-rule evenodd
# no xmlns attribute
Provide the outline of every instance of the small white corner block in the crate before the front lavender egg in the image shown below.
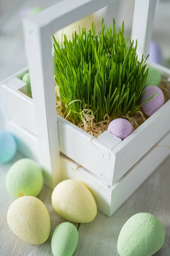
<svg viewBox="0 0 170 256"><path fill-rule="evenodd" d="M106 143L110 148L115 148L117 145L119 145L119 143L122 142L120 138L116 137L108 131L102 132L102 134L100 134L97 139Z"/></svg>

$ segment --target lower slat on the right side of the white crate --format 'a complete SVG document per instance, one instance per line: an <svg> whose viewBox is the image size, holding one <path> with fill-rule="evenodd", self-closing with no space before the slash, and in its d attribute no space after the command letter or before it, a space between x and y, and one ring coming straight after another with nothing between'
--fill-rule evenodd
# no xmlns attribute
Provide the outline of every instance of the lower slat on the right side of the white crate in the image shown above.
<svg viewBox="0 0 170 256"><path fill-rule="evenodd" d="M146 154L119 182L110 187L113 191L110 216L139 188L139 186L170 155L170 133Z"/></svg>

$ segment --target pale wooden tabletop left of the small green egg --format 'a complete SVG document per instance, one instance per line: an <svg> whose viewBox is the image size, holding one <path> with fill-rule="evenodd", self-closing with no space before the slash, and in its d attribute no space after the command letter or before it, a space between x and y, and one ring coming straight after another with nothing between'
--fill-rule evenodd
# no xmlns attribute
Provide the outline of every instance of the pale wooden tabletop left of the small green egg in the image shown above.
<svg viewBox="0 0 170 256"><path fill-rule="evenodd" d="M19 160L22 156L17 154L14 160L4 166L0 166L0 256L52 256L51 251L51 236L54 229L65 219L59 217L54 211L51 204L52 191L46 186L43 187L42 192L38 198L45 204L48 209L51 220L51 233L48 240L40 245L28 244L10 230L6 221L8 207L14 201L8 194L5 187L6 173L12 163ZM78 227L78 224L75 224Z"/></svg>

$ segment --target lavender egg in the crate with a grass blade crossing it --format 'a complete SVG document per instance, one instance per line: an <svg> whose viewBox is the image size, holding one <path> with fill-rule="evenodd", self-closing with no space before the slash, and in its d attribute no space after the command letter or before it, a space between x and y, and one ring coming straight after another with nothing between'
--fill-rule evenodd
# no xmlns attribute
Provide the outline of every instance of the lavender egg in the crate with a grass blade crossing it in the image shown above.
<svg viewBox="0 0 170 256"><path fill-rule="evenodd" d="M150 99L154 94L158 93L155 97L142 105L143 112L147 116L151 116L159 108L161 108L162 105L164 105L164 93L157 86L147 86L144 89L143 93L144 95L142 96L141 103L145 102L147 99Z"/></svg>

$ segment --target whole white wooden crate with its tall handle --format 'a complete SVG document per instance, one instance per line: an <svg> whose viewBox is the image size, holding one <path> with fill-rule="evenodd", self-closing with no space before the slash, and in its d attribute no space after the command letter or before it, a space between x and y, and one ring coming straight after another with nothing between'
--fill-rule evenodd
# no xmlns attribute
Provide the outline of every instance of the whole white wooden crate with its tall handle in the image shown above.
<svg viewBox="0 0 170 256"><path fill-rule="evenodd" d="M170 152L167 147L170 101L123 141L112 134L107 134L109 142L103 134L91 140L88 133L56 114L51 35L113 2L65 0L29 17L24 28L33 99L26 95L26 84L17 78L24 70L3 81L1 86L1 108L7 128L16 134L20 150L35 158L51 174L53 186L64 178L83 180L94 192L98 208L107 215L111 215ZM139 58L149 46L155 5L156 0L136 0L132 39L138 39ZM165 78L170 76L170 70L157 64L150 66L160 70ZM158 142L165 147L155 147ZM60 157L60 152L64 157ZM82 167L73 171L68 164L63 164L63 159L68 158L73 169ZM45 182L51 185L50 176L45 177Z"/></svg>

